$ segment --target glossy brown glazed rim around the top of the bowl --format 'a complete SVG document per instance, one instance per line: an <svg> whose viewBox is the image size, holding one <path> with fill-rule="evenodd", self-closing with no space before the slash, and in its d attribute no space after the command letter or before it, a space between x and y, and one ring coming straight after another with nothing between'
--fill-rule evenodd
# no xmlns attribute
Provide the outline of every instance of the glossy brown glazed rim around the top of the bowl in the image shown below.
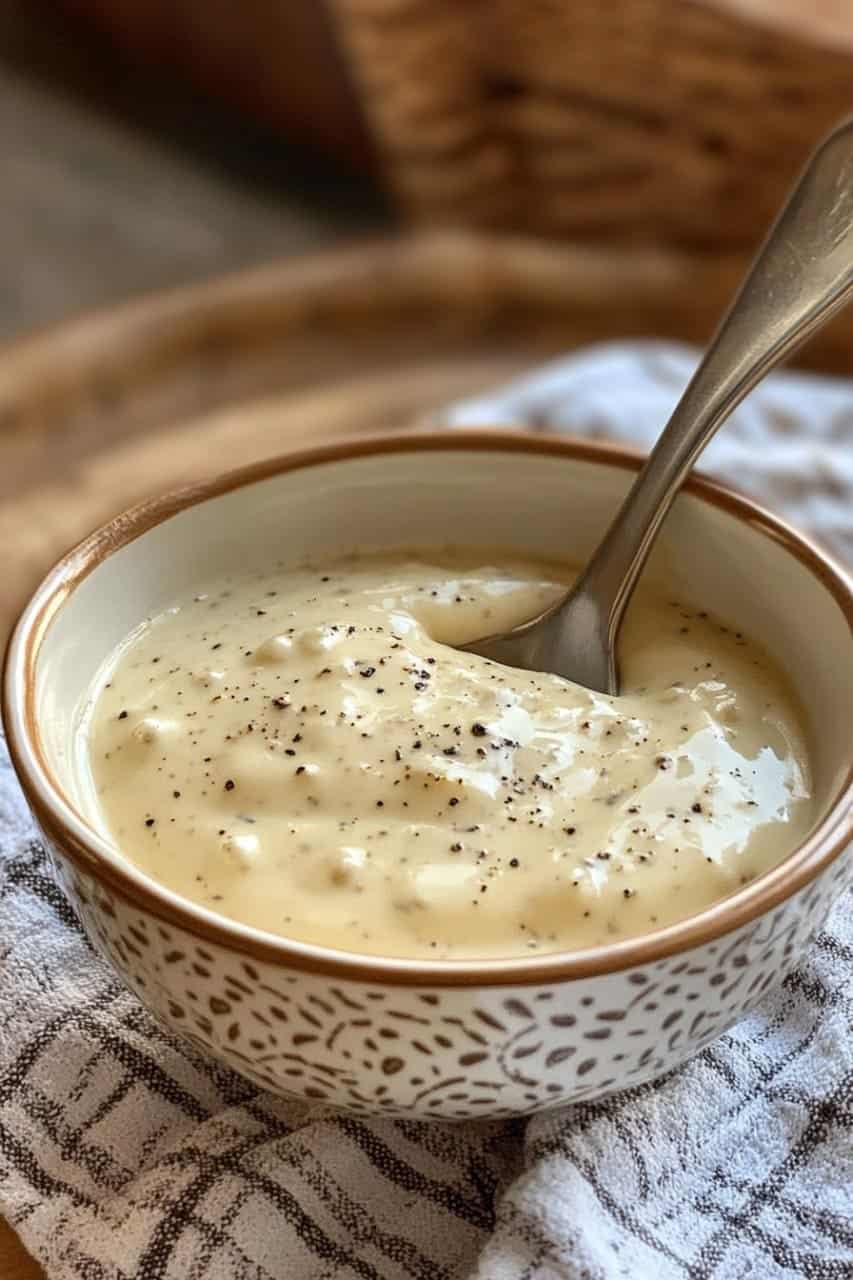
<svg viewBox="0 0 853 1280"><path fill-rule="evenodd" d="M150 911L199 940L252 959L338 979L410 987L494 987L592 978L648 965L703 946L772 910L843 852L853 828L853 764L826 817L808 840L779 867L707 910L654 933L610 946L512 960L465 961L386 959L279 938L196 906L124 863L120 854L74 810L50 769L38 732L38 652L65 600L108 556L196 503L304 467L328 466L378 453L416 452L535 453L629 471L637 471L642 463L639 454L620 447L532 435L506 428L371 435L288 453L231 471L205 484L143 502L96 530L58 562L24 608L6 650L3 684L3 713L18 777L45 835L72 864L140 910ZM853 582L840 566L748 498L699 476L692 476L685 489L757 529L804 564L838 602L853 639Z"/></svg>

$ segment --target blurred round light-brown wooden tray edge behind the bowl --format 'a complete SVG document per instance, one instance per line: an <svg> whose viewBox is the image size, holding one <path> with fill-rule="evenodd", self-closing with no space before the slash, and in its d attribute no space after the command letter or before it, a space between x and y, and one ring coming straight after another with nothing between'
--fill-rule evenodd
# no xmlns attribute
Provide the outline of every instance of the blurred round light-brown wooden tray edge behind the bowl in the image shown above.
<svg viewBox="0 0 853 1280"><path fill-rule="evenodd" d="M701 339L739 270L424 234L90 315L0 352L0 641L115 511L311 439L409 426L590 339ZM675 305L674 305L675 300Z"/></svg>

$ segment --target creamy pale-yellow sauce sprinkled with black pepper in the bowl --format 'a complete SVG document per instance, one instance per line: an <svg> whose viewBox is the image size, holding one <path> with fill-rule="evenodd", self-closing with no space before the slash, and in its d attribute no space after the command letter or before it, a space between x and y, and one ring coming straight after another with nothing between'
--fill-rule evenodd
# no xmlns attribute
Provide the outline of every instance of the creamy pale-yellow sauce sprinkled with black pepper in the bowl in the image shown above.
<svg viewBox="0 0 853 1280"><path fill-rule="evenodd" d="M570 577L364 558L149 620L88 726L115 842L233 919L388 956L612 942L731 893L812 819L781 673L642 590L616 699L448 648Z"/></svg>

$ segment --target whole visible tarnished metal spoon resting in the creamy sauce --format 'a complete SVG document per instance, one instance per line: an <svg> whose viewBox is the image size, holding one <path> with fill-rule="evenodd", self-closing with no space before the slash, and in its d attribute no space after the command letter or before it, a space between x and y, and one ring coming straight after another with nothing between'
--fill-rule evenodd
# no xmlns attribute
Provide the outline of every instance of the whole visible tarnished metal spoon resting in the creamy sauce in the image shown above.
<svg viewBox="0 0 853 1280"><path fill-rule="evenodd" d="M567 594L461 648L619 692L616 648L652 544L697 457L761 379L853 289L853 116L821 143L776 218L630 493Z"/></svg>

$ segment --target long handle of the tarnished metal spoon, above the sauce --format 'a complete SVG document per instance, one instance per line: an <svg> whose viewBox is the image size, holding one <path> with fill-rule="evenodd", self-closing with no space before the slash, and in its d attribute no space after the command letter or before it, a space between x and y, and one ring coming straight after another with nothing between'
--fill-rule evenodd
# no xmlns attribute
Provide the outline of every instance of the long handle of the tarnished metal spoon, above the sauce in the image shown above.
<svg viewBox="0 0 853 1280"><path fill-rule="evenodd" d="M654 538L711 436L853 289L853 116L821 143L774 223L654 449L575 585L612 653ZM615 684L615 671L612 672Z"/></svg>

